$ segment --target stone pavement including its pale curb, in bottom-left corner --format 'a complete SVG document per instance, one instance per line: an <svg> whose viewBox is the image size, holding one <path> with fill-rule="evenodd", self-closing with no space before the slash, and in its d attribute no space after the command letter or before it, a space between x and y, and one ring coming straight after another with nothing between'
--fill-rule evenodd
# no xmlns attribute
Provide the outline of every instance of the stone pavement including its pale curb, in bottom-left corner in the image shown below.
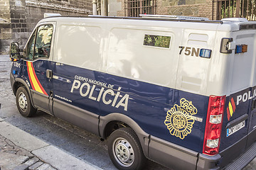
<svg viewBox="0 0 256 170"><path fill-rule="evenodd" d="M0 118L0 170L100 169Z"/></svg>

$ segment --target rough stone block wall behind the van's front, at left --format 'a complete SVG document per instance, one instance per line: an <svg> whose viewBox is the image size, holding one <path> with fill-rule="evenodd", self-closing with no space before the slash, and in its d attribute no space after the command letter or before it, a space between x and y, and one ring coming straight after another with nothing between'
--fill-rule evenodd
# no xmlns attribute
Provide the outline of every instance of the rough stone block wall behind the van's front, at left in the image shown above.
<svg viewBox="0 0 256 170"><path fill-rule="evenodd" d="M44 13L87 16L92 14L92 3L91 0L0 0L0 54L9 52L11 42L18 42L20 47L26 45Z"/></svg>

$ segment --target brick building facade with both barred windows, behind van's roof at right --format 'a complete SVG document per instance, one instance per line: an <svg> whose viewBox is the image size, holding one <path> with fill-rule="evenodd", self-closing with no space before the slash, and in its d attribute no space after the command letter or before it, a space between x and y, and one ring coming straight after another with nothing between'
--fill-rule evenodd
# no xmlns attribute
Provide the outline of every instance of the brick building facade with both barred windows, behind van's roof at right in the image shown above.
<svg viewBox="0 0 256 170"><path fill-rule="evenodd" d="M250 0L108 0L108 15L197 16L210 20L242 17L248 21L255 21L255 6L256 1Z"/></svg>

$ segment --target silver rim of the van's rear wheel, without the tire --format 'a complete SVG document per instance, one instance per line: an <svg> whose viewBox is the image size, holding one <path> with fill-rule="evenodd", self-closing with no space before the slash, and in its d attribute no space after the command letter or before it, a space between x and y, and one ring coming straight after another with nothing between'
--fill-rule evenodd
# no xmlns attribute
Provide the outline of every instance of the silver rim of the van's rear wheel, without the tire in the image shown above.
<svg viewBox="0 0 256 170"><path fill-rule="evenodd" d="M117 138L113 142L114 159L124 167L131 166L134 162L134 150L132 145L122 137Z"/></svg>

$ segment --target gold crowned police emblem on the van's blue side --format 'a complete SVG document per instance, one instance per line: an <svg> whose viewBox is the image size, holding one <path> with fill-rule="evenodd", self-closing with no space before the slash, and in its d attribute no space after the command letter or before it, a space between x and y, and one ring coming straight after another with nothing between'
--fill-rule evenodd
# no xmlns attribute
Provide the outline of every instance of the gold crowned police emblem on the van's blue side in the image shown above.
<svg viewBox="0 0 256 170"><path fill-rule="evenodd" d="M174 105L169 111L167 111L166 120L164 124L167 126L171 135L184 139L191 133L193 124L192 115L196 115L197 109L193 106L191 101L187 101L185 98L181 98L181 106Z"/></svg>

